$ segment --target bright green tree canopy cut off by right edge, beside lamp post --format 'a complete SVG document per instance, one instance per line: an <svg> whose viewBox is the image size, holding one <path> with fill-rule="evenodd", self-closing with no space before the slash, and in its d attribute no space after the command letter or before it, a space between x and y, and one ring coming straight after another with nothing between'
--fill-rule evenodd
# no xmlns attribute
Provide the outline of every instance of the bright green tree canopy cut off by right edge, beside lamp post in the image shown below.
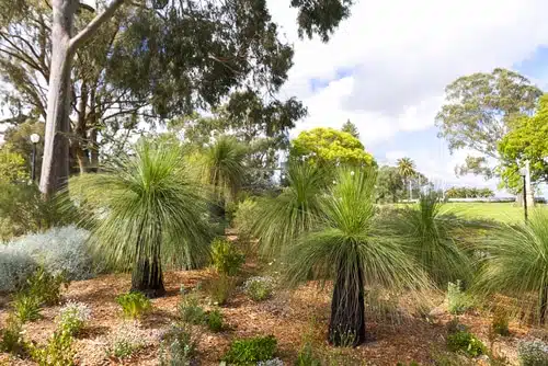
<svg viewBox="0 0 548 366"><path fill-rule="evenodd" d="M537 113L522 117L499 144L502 158L502 178L509 185L521 183L520 169L529 160L532 181L548 182L548 94L538 103Z"/></svg>

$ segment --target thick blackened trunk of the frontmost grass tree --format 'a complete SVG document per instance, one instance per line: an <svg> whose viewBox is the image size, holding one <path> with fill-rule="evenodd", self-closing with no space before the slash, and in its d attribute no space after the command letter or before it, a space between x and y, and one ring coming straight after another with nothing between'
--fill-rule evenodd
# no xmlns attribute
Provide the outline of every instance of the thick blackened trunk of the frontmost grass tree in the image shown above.
<svg viewBox="0 0 548 366"><path fill-rule="evenodd" d="M329 343L335 346L356 346L365 342L364 279L359 262L352 271L343 261L336 268L331 300Z"/></svg>

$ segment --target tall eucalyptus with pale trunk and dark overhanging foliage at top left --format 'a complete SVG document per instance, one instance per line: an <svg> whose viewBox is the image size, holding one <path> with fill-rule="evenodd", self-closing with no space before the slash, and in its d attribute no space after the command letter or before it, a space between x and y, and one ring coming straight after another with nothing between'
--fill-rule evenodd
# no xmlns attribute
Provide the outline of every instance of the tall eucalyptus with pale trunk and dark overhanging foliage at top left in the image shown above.
<svg viewBox="0 0 548 366"><path fill-rule="evenodd" d="M18 0L13 4L2 0L2 28L19 24L36 1L39 0ZM327 42L350 15L352 2L292 0L289 5L298 9L301 37L318 34ZM44 76L48 84L41 178L41 191L46 196L62 186L69 173L67 135L73 56L121 8L128 12L121 25L123 45L115 45L114 52L107 54L109 58L119 59L111 77L118 87L128 87L129 95L145 99L155 115L164 117L175 111L192 112L215 105L229 91L244 85L274 92L292 66L293 49L278 41L276 24L263 0L112 0L89 23L78 27L75 18L79 0L41 4L45 10L52 7L52 53L49 59L43 58L49 65L48 75ZM41 34L33 44L36 48L47 47L47 38Z"/></svg>

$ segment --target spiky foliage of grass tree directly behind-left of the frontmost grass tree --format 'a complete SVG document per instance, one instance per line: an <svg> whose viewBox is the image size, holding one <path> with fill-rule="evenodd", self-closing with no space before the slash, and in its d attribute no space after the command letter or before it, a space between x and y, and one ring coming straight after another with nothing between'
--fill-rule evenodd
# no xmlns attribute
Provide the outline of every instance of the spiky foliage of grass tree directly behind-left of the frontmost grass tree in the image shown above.
<svg viewBox="0 0 548 366"><path fill-rule="evenodd" d="M320 214L323 171L306 162L292 161L287 186L275 198L259 203L252 231L263 254L277 255L302 232L310 230Z"/></svg>

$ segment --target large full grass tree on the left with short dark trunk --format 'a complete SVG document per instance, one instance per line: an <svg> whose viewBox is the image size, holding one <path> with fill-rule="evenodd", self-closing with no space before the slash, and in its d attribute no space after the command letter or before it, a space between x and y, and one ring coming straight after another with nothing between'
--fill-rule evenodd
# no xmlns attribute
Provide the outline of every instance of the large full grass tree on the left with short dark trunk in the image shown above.
<svg viewBox="0 0 548 366"><path fill-rule="evenodd" d="M103 171L70 180L75 195L94 207L85 218L92 248L112 265L132 268L132 290L161 296L162 265L194 267L207 255L199 186L189 180L181 149L165 142L140 141Z"/></svg>

